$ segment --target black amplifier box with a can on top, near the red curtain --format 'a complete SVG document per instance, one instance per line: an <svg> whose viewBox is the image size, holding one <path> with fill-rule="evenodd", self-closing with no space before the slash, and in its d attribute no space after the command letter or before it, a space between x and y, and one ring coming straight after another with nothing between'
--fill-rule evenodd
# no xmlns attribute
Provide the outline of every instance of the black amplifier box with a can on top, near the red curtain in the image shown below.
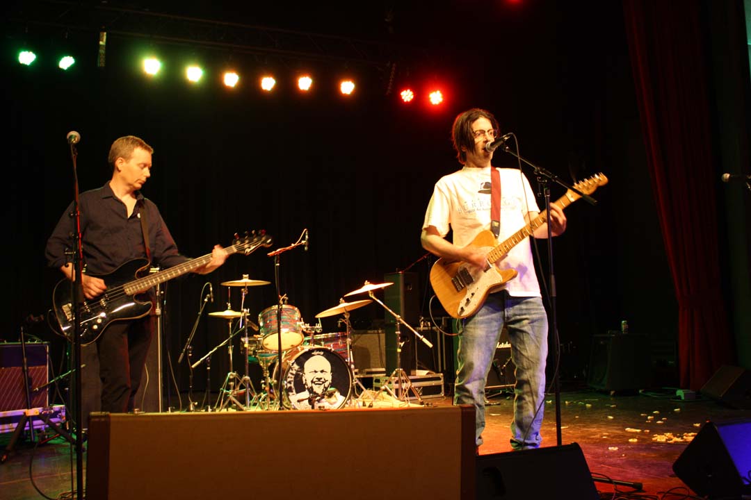
<svg viewBox="0 0 751 500"><path fill-rule="evenodd" d="M601 391L636 391L652 383L649 339L638 334L595 335L587 384Z"/></svg>

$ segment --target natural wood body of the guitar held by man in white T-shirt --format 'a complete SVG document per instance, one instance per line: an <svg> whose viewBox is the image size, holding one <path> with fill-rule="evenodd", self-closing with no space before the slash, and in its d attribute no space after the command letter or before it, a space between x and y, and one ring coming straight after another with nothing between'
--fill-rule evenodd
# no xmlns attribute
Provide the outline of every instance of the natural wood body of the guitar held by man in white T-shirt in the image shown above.
<svg viewBox="0 0 751 500"><path fill-rule="evenodd" d="M490 231L483 231L469 246L493 250L496 238ZM517 276L516 269L499 269L491 265L485 270L466 262L438 259L430 268L430 284L446 312L461 319L475 314L487 295L496 292L504 283Z"/></svg>

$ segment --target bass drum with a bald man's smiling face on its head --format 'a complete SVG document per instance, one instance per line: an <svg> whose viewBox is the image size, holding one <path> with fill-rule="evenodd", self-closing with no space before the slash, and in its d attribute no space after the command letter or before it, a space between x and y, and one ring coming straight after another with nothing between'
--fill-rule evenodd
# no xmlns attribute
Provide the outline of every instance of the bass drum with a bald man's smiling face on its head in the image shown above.
<svg viewBox="0 0 751 500"><path fill-rule="evenodd" d="M351 397L353 380L346 361L328 347L297 346L282 358L282 400L289 409L342 408Z"/></svg>

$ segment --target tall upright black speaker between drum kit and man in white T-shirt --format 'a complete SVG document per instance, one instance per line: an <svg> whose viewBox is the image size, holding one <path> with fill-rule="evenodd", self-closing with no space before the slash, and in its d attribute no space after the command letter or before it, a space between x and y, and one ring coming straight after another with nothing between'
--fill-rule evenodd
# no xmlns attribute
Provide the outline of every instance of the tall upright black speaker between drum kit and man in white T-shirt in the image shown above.
<svg viewBox="0 0 751 500"><path fill-rule="evenodd" d="M384 304L397 313L407 325L416 327L420 323L420 286L418 286L418 274L412 272L388 273L384 275L384 281L394 283L384 290ZM386 372L392 373L397 368L397 319L384 311L386 330ZM400 331L404 340L400 352L401 368L408 375L415 375L417 361L415 359L415 342L421 342L409 328L400 325Z"/></svg>

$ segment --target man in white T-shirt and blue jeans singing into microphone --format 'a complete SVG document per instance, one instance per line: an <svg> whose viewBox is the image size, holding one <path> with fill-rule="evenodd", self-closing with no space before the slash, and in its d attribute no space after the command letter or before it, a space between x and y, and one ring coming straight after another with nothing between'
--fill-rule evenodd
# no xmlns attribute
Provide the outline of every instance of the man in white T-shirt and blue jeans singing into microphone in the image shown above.
<svg viewBox="0 0 751 500"><path fill-rule="evenodd" d="M454 120L451 139L462 169L440 178L427 206L421 243L448 261L462 261L478 270L494 265L511 276L498 289L490 290L481 307L460 326L457 380L454 404L475 406L475 445L483 443L485 428L485 381L501 330L508 328L511 359L516 365L514 419L511 448L538 448L543 418L545 362L547 358L547 313L532 261L529 238L515 245L497 262L488 262L490 247L503 241L533 220L539 212L529 181L520 170L496 169L490 165L493 150L507 136L499 137L492 113L469 109ZM493 185L491 170L499 173ZM497 182L499 181L499 182ZM491 192L496 190L498 221L491 215ZM499 193L497 193L499 191ZM551 232L566 230L566 216L550 205ZM490 232L490 243L475 244L478 235ZM453 242L445 239L453 232ZM547 238L547 224L532 235ZM435 288L435 286L434 286Z"/></svg>

